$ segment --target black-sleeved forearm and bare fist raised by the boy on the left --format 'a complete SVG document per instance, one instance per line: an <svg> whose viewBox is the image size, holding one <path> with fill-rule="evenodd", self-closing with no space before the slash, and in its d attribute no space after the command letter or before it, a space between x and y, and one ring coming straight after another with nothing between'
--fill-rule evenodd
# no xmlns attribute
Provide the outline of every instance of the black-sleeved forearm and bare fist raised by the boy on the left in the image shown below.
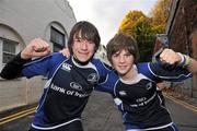
<svg viewBox="0 0 197 131"><path fill-rule="evenodd" d="M21 76L23 64L34 57L43 57L50 52L49 45L40 38L33 39L20 53L9 61L2 69L0 76L15 79Z"/></svg>

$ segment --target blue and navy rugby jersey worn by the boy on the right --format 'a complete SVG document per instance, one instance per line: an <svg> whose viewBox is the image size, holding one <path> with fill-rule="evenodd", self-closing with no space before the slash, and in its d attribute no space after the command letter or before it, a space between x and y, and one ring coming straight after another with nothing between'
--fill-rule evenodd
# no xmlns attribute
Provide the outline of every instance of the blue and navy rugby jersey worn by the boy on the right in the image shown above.
<svg viewBox="0 0 197 131"><path fill-rule="evenodd" d="M123 114L126 129L158 130L173 126L170 114L157 92L157 83L178 82L190 78L192 74L181 67L166 70L160 63L144 62L134 67L138 72L134 81L126 82L113 71L101 90L113 95Z"/></svg>

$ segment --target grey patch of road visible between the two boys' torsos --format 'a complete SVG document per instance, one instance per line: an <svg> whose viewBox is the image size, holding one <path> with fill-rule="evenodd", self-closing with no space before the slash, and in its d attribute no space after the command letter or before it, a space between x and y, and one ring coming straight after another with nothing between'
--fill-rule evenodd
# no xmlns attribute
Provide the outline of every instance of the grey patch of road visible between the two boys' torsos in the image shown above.
<svg viewBox="0 0 197 131"><path fill-rule="evenodd" d="M84 131L124 131L121 115L106 93L93 92L82 118Z"/></svg>

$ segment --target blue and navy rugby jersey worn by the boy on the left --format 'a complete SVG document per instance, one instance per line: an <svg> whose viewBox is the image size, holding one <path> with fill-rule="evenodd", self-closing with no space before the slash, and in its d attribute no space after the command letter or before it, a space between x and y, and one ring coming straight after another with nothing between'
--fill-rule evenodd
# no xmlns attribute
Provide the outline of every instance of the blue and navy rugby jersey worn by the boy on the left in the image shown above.
<svg viewBox="0 0 197 131"><path fill-rule="evenodd" d="M48 81L32 123L33 128L39 130L55 130L80 120L94 86L104 82L111 71L99 59L92 59L86 66L80 66L74 62L73 57L68 59L59 52L25 62L18 56L11 64L7 66L2 75L8 75L7 79L36 75L47 78ZM23 68L20 68L22 66ZM12 69L16 73L12 73L13 76L11 76L7 73L9 72L7 69Z"/></svg>

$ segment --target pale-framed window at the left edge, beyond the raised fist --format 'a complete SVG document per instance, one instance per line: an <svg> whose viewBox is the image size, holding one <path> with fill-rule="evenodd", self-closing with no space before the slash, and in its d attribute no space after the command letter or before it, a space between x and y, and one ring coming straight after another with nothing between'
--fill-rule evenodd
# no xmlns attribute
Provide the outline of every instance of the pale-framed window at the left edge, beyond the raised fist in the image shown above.
<svg viewBox="0 0 197 131"><path fill-rule="evenodd" d="M1 40L2 40L2 63L7 63L15 56L18 43L4 38Z"/></svg>

